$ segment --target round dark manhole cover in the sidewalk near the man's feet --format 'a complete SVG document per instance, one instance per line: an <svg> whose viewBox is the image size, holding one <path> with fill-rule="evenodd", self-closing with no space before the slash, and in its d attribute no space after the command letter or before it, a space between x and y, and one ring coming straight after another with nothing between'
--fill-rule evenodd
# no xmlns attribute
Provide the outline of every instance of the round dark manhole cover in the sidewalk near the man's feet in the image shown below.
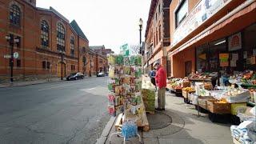
<svg viewBox="0 0 256 144"><path fill-rule="evenodd" d="M147 114L150 130L158 130L170 126L172 119L169 115L156 111L155 114Z"/></svg>

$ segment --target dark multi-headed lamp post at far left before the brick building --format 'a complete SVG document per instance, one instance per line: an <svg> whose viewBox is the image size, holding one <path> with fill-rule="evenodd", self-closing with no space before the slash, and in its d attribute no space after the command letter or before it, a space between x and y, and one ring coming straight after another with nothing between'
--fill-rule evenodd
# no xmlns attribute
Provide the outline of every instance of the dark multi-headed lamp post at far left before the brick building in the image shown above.
<svg viewBox="0 0 256 144"><path fill-rule="evenodd" d="M14 38L14 34L6 35L6 40L10 45L10 83L14 82L14 43L19 42L19 38Z"/></svg>

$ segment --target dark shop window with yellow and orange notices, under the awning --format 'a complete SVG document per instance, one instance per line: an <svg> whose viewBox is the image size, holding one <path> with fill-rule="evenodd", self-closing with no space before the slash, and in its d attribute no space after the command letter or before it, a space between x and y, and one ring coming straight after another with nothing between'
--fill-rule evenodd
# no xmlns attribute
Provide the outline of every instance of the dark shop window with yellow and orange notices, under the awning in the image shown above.
<svg viewBox="0 0 256 144"><path fill-rule="evenodd" d="M256 23L238 33L195 48L196 71L234 74L256 70Z"/></svg>

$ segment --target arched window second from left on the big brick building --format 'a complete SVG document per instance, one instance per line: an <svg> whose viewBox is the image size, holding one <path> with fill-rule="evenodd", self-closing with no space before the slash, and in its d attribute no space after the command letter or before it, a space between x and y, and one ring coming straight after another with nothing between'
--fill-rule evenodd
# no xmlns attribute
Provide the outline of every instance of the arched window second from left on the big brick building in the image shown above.
<svg viewBox="0 0 256 144"><path fill-rule="evenodd" d="M49 46L49 26L44 20L41 22L41 45Z"/></svg>

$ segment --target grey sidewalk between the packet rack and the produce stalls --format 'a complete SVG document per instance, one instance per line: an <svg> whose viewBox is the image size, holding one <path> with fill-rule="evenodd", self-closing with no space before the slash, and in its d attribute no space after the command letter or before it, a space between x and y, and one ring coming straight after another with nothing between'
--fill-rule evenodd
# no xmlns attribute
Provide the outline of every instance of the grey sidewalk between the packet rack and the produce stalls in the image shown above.
<svg viewBox="0 0 256 144"><path fill-rule="evenodd" d="M166 92L166 111L147 114L150 131L139 132L142 136L142 142L144 144L233 143L230 125L213 123L210 122L207 114L200 113L199 118L197 114L193 105L186 105L183 98L175 97L174 94ZM110 134L114 133L114 126L111 126ZM105 130L97 143L108 144L110 134L107 134ZM121 144L122 138L114 136L111 143ZM126 143L137 144L139 142L138 138L133 138Z"/></svg>

